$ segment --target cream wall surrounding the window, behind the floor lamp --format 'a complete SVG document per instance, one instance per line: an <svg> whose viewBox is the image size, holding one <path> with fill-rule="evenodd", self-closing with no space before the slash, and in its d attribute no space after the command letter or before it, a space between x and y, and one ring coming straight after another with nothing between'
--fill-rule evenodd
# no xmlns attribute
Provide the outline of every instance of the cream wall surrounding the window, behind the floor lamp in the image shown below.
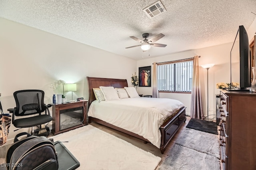
<svg viewBox="0 0 256 170"><path fill-rule="evenodd" d="M238 26L239 27L239 26ZM238 28L237 27L237 28ZM249 42L252 40L256 32L256 19L247 30ZM235 37L236 35L234 35ZM192 49L180 53L174 53L170 55L160 56L160 57L144 57L137 62L137 72L138 67L152 66L153 62L159 63L164 61L174 61L178 59L186 59L194 57L195 55L200 55L199 65L214 63L215 65L208 71L209 79L209 115L215 115L215 95L219 93L219 89L216 89L216 83L230 82L230 50L232 48L233 42L225 43L222 45L216 45L201 49ZM166 48L172 48L166 46ZM150 53L150 51L149 51ZM148 55L148 54L147 54ZM146 56L146 55L145 55ZM238 68L237 68L238 69ZM239 82L239 81L238 81ZM202 90L202 103L204 109L204 115L207 115L207 70L200 67L200 85ZM143 95L152 95L152 87L138 87L138 93ZM187 107L186 113L190 115L190 102L191 95L183 93L159 93L161 98L172 98L182 101ZM214 116L212 116L214 117ZM210 118L210 117L209 117Z"/></svg>

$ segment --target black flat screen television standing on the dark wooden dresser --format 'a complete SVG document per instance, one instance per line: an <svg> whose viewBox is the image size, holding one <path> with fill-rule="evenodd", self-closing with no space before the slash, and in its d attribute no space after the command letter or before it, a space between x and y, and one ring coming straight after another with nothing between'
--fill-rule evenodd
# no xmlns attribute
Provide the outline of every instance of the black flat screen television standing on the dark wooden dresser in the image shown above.
<svg viewBox="0 0 256 170"><path fill-rule="evenodd" d="M230 83L239 83L240 90L251 86L251 59L247 32L239 26L230 51Z"/></svg>

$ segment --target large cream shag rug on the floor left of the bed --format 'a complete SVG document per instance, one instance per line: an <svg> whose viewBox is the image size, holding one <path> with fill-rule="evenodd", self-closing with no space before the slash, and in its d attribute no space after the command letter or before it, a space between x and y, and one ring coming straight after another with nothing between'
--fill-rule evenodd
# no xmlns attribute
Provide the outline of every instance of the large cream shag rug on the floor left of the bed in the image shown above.
<svg viewBox="0 0 256 170"><path fill-rule="evenodd" d="M52 136L80 162L78 170L154 170L161 158L87 125Z"/></svg>

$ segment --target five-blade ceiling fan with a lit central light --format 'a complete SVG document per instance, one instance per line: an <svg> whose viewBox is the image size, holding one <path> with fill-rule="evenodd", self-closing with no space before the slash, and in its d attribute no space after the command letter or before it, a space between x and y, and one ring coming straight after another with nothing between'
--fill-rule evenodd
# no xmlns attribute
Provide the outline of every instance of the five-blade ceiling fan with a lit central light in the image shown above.
<svg viewBox="0 0 256 170"><path fill-rule="evenodd" d="M144 33L142 34L142 37L145 38L145 40L140 40L134 36L130 36L130 38L132 38L133 40L140 42L140 45L134 45L131 47L126 47L126 48L132 48L132 47L138 47L141 46L141 49L144 51L147 51L148 49L150 49L150 46L154 46L154 47L166 47L166 44L161 44L161 43L154 43L157 40L159 40L160 38L164 37L164 34L160 33L152 38L150 38L149 40L147 40L149 34L148 33Z"/></svg>

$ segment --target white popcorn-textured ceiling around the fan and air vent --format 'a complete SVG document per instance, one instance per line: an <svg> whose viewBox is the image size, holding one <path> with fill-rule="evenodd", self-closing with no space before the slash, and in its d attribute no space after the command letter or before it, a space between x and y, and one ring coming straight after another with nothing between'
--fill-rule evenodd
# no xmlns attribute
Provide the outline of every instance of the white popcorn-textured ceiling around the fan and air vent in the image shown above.
<svg viewBox="0 0 256 170"><path fill-rule="evenodd" d="M143 9L157 0L0 0L0 17L112 53L142 59L130 38L162 33L144 58L233 42L256 15L256 0L161 0L166 12L149 18ZM253 12L253 13L252 13ZM145 56L147 55L147 56Z"/></svg>

